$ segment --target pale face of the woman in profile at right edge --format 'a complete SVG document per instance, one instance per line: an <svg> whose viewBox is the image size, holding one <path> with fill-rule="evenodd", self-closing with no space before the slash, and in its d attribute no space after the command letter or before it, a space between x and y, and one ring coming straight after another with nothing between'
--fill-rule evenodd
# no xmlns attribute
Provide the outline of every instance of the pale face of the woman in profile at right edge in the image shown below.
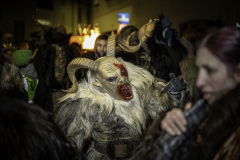
<svg viewBox="0 0 240 160"><path fill-rule="evenodd" d="M214 56L207 48L197 51L196 65L199 68L197 86L203 92L203 98L212 104L239 83L236 73L230 75L226 64Z"/></svg>

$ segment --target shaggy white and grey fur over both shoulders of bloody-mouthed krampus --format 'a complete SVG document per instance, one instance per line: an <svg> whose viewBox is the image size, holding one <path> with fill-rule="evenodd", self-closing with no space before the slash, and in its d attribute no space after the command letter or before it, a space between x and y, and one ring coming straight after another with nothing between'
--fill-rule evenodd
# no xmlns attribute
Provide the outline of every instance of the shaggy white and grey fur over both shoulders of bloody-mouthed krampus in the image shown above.
<svg viewBox="0 0 240 160"><path fill-rule="evenodd" d="M119 59L122 61L121 59ZM145 106L151 92L149 88L154 77L146 70L124 62L129 73L134 98L128 102L113 99L107 93L101 93L92 85L95 79L88 72L88 82L79 83L77 93L68 93L59 100L55 108L55 121L67 137L82 147L83 140L90 137L96 121L103 121L113 110L122 117L129 126L129 134L141 134L146 125L147 112ZM99 120L98 115L101 115ZM144 128L145 129L145 128Z"/></svg>

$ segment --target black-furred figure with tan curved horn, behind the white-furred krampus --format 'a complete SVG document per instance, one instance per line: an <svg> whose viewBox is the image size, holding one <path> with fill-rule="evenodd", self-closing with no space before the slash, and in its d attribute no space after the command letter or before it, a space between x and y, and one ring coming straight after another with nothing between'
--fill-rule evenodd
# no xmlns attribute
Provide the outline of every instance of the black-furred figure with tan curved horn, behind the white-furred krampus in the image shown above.
<svg viewBox="0 0 240 160"><path fill-rule="evenodd" d="M159 19L150 19L138 31L132 32L125 42L131 45L142 41L136 60L138 65L166 81L170 80L169 73L181 75L179 62L188 55L171 25L172 22L161 14Z"/></svg>

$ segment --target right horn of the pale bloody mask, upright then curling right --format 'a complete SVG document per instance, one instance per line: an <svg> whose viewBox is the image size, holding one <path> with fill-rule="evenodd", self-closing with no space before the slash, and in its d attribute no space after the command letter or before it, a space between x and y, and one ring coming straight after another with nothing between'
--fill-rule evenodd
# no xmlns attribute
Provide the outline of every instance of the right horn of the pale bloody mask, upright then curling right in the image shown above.
<svg viewBox="0 0 240 160"><path fill-rule="evenodd" d="M111 35L111 36L108 37L107 56L115 57L115 47L116 47L116 44L118 44L119 47L121 47L123 50L125 50L127 52L136 52L141 47L141 41L136 46L128 46L128 45L123 43L123 41L122 41L122 39L120 38L119 35L114 34L114 35Z"/></svg>

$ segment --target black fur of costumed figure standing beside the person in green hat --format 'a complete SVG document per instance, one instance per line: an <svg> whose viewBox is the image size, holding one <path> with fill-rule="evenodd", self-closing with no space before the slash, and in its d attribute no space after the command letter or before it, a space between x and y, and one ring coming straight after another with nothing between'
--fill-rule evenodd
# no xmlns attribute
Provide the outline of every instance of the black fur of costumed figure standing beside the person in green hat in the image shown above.
<svg viewBox="0 0 240 160"><path fill-rule="evenodd" d="M39 47L33 60L39 79L34 103L48 111L52 111L52 91L69 87L71 81L67 75L67 66L74 58L80 56L76 48L68 45L70 36L70 34L64 35L60 32L48 31L45 34L47 43ZM60 45L66 53L65 75L62 84L55 79L56 49L52 44Z"/></svg>

